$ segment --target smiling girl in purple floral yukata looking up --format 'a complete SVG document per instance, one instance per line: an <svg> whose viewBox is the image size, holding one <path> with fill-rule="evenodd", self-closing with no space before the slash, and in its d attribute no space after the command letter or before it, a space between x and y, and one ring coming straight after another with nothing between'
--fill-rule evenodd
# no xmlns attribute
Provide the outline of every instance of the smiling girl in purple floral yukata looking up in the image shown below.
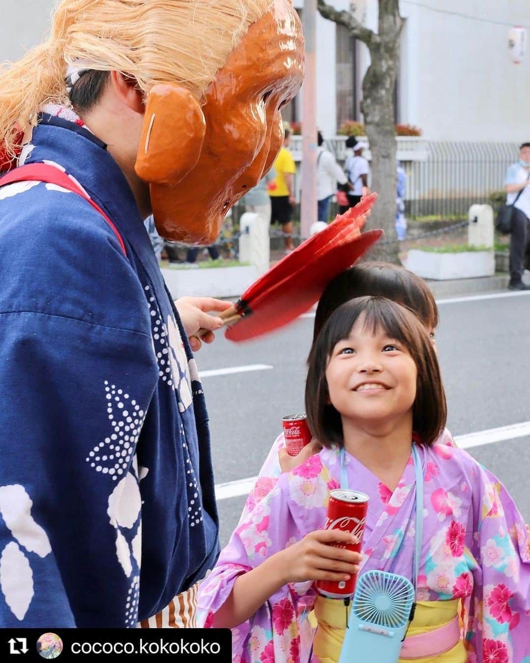
<svg viewBox="0 0 530 663"><path fill-rule="evenodd" d="M305 399L323 450L284 473L246 515L199 592L207 625L233 628L233 659L305 662L297 613L314 607L313 660L337 661L344 606L313 582L342 579L358 564L412 579L416 456L424 481L419 603L400 660L530 656L525 524L496 477L463 450L434 444L445 394L417 318L383 298L343 304L313 345ZM323 531L341 466L349 487L370 497L362 559L330 545L348 534Z"/></svg>

